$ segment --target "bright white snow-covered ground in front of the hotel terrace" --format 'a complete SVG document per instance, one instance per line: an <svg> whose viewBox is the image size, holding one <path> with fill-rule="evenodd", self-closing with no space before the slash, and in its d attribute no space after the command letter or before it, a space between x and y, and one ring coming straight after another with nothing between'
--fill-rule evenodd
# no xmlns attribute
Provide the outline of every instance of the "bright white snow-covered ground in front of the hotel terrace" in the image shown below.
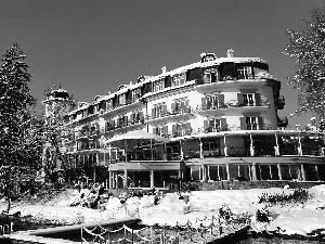
<svg viewBox="0 0 325 244"><path fill-rule="evenodd" d="M289 194L289 189L252 189L252 190L220 190L220 191L195 191L190 194L190 206L192 211L184 214L185 205L179 200L177 193L165 194L158 205L154 204L154 195L128 198L126 204L113 197L105 204L106 209L90 209L87 207L69 207L70 203L78 200L77 190L68 190L53 201L42 205L28 205L24 203L12 207L12 213L21 211L22 216L31 215L36 219L47 219L64 223L77 223L103 221L109 218L135 215L142 219L144 224L168 224L177 222L184 224L187 221L195 222L196 219L212 218L218 216L219 208L226 204L234 214L255 213L261 207L258 204L262 193ZM313 187L309 190L312 198L304 205L288 205L285 207L270 207L269 210L273 221L266 227L268 230L280 230L284 234L307 235L313 230L325 229L325 184ZM5 208L5 203L0 204L0 209ZM138 210L139 209L139 210Z"/></svg>

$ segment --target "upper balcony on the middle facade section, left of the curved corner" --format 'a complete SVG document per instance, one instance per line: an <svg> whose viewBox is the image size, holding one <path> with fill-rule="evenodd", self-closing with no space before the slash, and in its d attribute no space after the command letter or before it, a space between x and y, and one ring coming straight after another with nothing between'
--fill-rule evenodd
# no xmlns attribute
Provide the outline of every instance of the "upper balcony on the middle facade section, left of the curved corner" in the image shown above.
<svg viewBox="0 0 325 244"><path fill-rule="evenodd" d="M152 114L147 116L147 120L150 123L158 123L161 120L173 120L177 118L183 119L187 118L188 116L194 116L192 108L188 107L182 107L179 110L170 110L170 111L165 111L158 114Z"/></svg>

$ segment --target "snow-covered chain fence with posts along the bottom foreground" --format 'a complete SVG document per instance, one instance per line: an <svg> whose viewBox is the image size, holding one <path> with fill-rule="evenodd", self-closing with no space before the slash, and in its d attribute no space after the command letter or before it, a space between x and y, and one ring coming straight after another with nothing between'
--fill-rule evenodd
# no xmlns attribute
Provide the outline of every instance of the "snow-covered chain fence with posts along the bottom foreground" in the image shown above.
<svg viewBox="0 0 325 244"><path fill-rule="evenodd" d="M185 224L177 222L174 227L155 226L139 229L131 229L125 224L115 229L104 228L100 224L91 230L82 227L81 243L208 243L248 228L249 217L248 214L219 215L196 219L193 222L187 221Z"/></svg>

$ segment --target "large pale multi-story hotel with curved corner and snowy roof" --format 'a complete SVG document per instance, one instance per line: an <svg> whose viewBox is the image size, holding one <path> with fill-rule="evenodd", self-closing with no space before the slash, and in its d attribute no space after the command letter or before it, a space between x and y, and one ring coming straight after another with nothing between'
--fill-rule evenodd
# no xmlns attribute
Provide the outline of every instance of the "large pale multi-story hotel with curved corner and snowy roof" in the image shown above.
<svg viewBox="0 0 325 244"><path fill-rule="evenodd" d="M105 166L110 188L184 180L325 179L323 133L287 130L281 81L259 57L203 53L200 61L141 76L67 116L73 167ZM127 151L107 139L143 130L170 139Z"/></svg>

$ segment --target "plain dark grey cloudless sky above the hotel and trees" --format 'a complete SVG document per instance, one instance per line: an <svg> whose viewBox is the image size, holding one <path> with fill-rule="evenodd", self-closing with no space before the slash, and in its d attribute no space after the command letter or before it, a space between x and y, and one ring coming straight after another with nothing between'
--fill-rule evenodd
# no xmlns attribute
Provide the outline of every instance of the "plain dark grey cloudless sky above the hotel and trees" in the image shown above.
<svg viewBox="0 0 325 244"><path fill-rule="evenodd" d="M324 0L1 0L0 54L18 43L38 104L54 85L91 102L138 77L192 64L200 53L257 56L282 81L280 116L297 110L285 77L295 60L283 54L287 29L299 30ZM289 118L307 125L312 115Z"/></svg>

